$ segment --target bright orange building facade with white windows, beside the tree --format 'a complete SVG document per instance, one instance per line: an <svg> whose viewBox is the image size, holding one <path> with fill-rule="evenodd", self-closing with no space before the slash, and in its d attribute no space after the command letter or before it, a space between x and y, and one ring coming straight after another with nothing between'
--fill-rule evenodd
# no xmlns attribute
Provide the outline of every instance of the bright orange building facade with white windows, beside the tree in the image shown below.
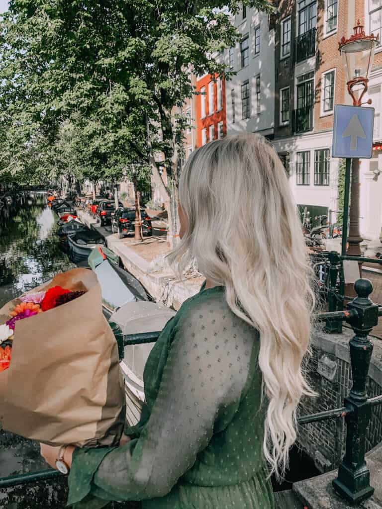
<svg viewBox="0 0 382 509"><path fill-rule="evenodd" d="M214 81L215 79L215 81ZM196 146L227 134L226 85L224 78L206 74L196 79Z"/></svg>

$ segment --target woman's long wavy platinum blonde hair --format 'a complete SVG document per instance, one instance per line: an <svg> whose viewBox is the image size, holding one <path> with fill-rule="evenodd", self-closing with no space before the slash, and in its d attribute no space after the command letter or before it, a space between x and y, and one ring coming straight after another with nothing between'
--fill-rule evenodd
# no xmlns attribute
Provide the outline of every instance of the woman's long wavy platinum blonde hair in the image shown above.
<svg viewBox="0 0 382 509"><path fill-rule="evenodd" d="M280 480L296 440L297 405L317 395L304 362L312 353L314 275L284 166L258 134L216 140L188 158L179 202L188 225L166 257L170 266L182 279L195 258L204 276L226 287L232 312L260 332L263 451L269 476Z"/></svg>

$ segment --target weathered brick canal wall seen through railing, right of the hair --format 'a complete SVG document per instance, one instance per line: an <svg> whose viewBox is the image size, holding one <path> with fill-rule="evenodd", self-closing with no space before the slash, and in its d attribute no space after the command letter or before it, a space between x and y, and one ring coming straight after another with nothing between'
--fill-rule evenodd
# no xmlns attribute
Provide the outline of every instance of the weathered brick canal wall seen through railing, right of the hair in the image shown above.
<svg viewBox="0 0 382 509"><path fill-rule="evenodd" d="M344 343L343 343L344 344ZM349 362L325 352L317 346L312 347L313 356L308 364L311 385L319 393L318 398L304 398L301 402L301 415L333 410L343 406L345 396L350 392L351 368ZM337 371L333 381L321 376L318 361L324 355L337 362ZM367 393L369 398L382 394L382 386L368 378ZM314 458L316 451L329 460L330 466L322 471L338 468L345 454L346 426L345 419L328 419L299 427L298 444ZM366 451L382 441L382 405L372 409L372 418L367 429ZM316 465L320 469L319 465Z"/></svg>

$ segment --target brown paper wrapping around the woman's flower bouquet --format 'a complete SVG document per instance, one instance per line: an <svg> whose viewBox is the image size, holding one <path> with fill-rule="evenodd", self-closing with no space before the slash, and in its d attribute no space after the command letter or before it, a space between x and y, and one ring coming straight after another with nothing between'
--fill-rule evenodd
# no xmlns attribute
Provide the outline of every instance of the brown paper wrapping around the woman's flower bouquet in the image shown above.
<svg viewBox="0 0 382 509"><path fill-rule="evenodd" d="M57 285L87 293L16 322L10 366L0 373L2 426L49 445L116 445L125 422L124 382L97 276L73 269L33 293ZM18 302L0 309L2 323Z"/></svg>

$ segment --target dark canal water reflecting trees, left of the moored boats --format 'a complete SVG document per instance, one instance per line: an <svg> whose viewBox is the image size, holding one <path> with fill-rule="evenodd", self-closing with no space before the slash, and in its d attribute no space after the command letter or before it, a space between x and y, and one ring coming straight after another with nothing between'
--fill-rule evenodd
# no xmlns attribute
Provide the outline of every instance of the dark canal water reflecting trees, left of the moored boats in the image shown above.
<svg viewBox="0 0 382 509"><path fill-rule="evenodd" d="M57 221L46 194L25 195L0 209L0 307L75 267L59 248ZM0 477L46 468L37 442L5 432L0 425ZM66 498L66 479L58 478L0 489L0 509L64 509ZM137 509L135 503L125 507Z"/></svg>

